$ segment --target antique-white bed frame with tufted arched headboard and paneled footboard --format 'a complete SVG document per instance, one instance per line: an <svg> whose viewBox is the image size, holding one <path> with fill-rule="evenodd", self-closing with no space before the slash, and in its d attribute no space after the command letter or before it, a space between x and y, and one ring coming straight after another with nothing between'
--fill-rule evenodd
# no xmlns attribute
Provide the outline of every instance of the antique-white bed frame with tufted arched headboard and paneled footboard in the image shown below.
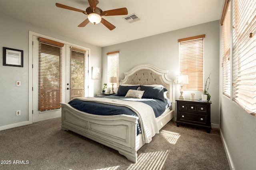
<svg viewBox="0 0 256 170"><path fill-rule="evenodd" d="M128 72L120 85L162 85L168 91L172 109L156 118L158 129L161 129L174 117L175 82L168 78L168 70L160 70L149 64L140 64ZM96 99L98 100L98 99ZM138 116L134 115L94 115L80 111L67 103L62 106L62 130L70 130L98 143L106 145L132 162L137 161L137 151L146 143L142 133L137 134ZM154 140L154 138L153 138Z"/></svg>

